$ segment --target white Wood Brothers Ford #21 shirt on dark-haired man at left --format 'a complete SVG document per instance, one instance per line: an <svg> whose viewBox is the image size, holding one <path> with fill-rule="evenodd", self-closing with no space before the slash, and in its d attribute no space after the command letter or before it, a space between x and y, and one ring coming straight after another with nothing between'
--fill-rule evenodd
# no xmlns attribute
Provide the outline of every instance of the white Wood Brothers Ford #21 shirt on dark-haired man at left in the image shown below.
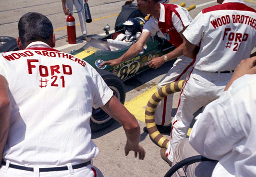
<svg viewBox="0 0 256 177"><path fill-rule="evenodd" d="M104 106L113 92L92 66L33 42L24 50L0 53L0 74L11 97L3 160L43 168L97 156L89 124L92 107Z"/></svg>

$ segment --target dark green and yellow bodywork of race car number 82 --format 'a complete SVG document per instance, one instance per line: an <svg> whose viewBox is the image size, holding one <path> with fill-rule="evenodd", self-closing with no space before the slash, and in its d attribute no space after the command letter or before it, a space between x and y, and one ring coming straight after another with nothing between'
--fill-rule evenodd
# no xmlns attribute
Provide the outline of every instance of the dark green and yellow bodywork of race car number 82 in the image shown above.
<svg viewBox="0 0 256 177"><path fill-rule="evenodd" d="M75 55L79 59L85 60L97 69L99 64L98 61L102 62L117 59L129 49L130 46L113 44L105 41L106 39L116 36L116 34L120 34L120 31L103 36L99 39L92 38L85 44L85 46L71 52L71 54ZM169 43L166 45L167 43L168 42L163 38L160 38L159 40L157 36L152 36L148 39L143 50L138 55L120 63L119 65L107 65L103 69L117 75L122 81L125 81L136 74L149 69L148 62L150 60L175 49L175 47Z"/></svg>

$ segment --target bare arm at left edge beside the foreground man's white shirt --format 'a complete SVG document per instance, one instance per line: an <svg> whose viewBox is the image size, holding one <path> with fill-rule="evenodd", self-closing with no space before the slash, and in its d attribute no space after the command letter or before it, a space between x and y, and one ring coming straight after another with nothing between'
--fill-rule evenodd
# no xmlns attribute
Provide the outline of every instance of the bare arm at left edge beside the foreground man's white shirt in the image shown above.
<svg viewBox="0 0 256 177"><path fill-rule="evenodd" d="M6 79L0 75L0 162L8 137L10 106L9 88Z"/></svg>

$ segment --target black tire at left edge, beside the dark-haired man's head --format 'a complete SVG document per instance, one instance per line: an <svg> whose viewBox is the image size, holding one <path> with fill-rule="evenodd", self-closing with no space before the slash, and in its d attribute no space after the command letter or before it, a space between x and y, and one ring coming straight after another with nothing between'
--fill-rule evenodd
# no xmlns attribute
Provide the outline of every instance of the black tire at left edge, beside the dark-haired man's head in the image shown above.
<svg viewBox="0 0 256 177"><path fill-rule="evenodd" d="M19 50L16 39L10 36L0 36L0 52Z"/></svg>

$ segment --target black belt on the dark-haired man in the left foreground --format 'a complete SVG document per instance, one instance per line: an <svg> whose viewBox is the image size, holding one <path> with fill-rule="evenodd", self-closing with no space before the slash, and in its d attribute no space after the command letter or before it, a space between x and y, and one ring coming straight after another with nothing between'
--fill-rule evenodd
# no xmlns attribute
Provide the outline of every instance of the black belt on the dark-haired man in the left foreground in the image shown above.
<svg viewBox="0 0 256 177"><path fill-rule="evenodd" d="M82 167L90 165L90 164L91 164L91 161L88 161L83 164L72 165L72 168L73 169L82 168ZM2 161L2 165L6 165L6 162ZM34 168L32 168L32 167L26 167L26 166L14 165L14 164L10 164L9 167L16 168L19 170L34 171ZM68 170L68 167L60 166L60 167L39 168L39 172L64 171L64 170Z"/></svg>

